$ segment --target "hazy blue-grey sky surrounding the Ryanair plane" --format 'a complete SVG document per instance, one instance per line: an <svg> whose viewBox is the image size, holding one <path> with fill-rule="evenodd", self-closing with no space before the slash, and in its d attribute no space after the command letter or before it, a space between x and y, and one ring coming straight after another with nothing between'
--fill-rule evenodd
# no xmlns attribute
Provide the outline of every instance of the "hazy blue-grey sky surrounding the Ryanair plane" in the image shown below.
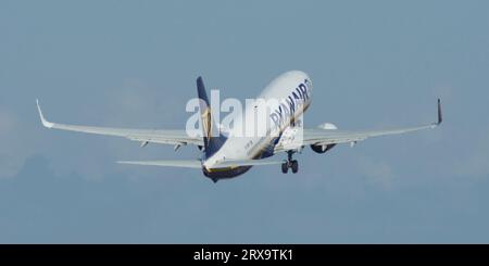
<svg viewBox="0 0 489 266"><path fill-rule="evenodd" d="M0 242L489 242L488 1L0 1ZM436 130L305 148L298 175L117 160L186 147L48 130L184 128L195 79L256 96L306 72L305 124ZM285 157L279 154L278 157Z"/></svg>

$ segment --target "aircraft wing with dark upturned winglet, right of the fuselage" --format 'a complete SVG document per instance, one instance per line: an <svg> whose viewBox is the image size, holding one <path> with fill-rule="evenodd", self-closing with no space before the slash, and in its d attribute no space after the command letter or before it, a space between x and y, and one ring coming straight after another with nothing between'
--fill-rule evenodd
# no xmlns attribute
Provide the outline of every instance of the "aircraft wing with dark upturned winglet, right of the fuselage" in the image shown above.
<svg viewBox="0 0 489 266"><path fill-rule="evenodd" d="M441 104L438 99L438 122L405 128L392 128L383 130L337 130L337 129L303 129L303 145L316 144L316 145L327 145L327 144L339 144L339 143L354 143L356 141L365 140L372 137L388 136L413 132L423 129L430 129L439 126L442 122L441 115ZM276 149L277 151L277 149ZM278 151L279 148L278 148ZM285 149L283 149L285 151Z"/></svg>

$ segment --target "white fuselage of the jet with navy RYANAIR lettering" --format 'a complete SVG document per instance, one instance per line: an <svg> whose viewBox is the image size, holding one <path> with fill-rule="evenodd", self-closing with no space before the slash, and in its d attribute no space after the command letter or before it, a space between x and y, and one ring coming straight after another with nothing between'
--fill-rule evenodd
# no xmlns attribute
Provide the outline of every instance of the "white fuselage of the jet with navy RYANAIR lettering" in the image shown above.
<svg viewBox="0 0 489 266"><path fill-rule="evenodd" d="M203 162L203 166L212 169L213 165L225 160L253 160L261 156L262 152L277 139L280 134L290 126L297 117L303 114L312 101L312 83L309 76L299 71L287 72L275 78L260 93L258 99L263 99L265 109L271 113L265 114L262 122L256 125L255 135L242 135L244 126L236 126L229 132L227 141L212 156ZM262 106L261 106L262 107ZM255 109L248 107L242 123L247 117L255 116ZM263 117L262 117L263 118ZM265 134L259 134L265 132Z"/></svg>

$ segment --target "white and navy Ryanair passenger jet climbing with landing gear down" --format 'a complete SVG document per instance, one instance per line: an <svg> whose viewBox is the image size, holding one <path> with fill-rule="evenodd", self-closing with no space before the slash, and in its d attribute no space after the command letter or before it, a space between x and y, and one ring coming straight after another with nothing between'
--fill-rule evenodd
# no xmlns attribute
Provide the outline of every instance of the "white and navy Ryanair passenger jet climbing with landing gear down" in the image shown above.
<svg viewBox="0 0 489 266"><path fill-rule="evenodd" d="M442 122L441 103L438 99L438 121L414 127L383 130L339 130L334 124L325 123L316 128L303 128L301 142L287 145L293 139L297 119L308 110L312 102L311 78L301 71L290 71L272 80L260 93L260 99L278 99L281 103L271 107L275 112L268 117L266 134L255 137L237 137L215 134L215 122L210 112L210 102L202 77L197 78L197 91L200 102L199 112L202 125L201 136L189 136L186 130L127 129L112 127L93 127L52 123L46 119L36 100L40 121L46 128L79 131L86 134L123 137L138 141L141 147L148 143L173 144L175 151L180 145L197 145L202 153L197 160L159 160L159 161L120 161L121 164L173 166L201 169L203 175L217 182L220 179L234 178L248 172L252 166L281 165L281 172L289 169L298 173L299 164L292 155L310 145L316 153L325 153L340 143L355 144L372 137L406 134L438 127ZM283 110L284 107L284 110ZM288 107L288 110L286 110ZM285 112L287 111L287 112ZM247 112L246 115L251 115ZM273 134L275 132L275 134ZM287 154L287 160L271 160L277 153Z"/></svg>

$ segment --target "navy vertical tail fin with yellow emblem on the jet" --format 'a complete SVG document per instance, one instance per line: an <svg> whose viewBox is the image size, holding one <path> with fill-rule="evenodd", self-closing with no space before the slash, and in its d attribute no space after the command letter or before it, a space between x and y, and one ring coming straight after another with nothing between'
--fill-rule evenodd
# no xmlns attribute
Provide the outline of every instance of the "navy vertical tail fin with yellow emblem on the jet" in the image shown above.
<svg viewBox="0 0 489 266"><path fill-rule="evenodd" d="M216 124L212 119L211 104L209 102L208 94L205 93L205 87L202 77L197 78L197 93L199 94L204 152L205 156L209 157L223 145L224 141L218 132Z"/></svg>

